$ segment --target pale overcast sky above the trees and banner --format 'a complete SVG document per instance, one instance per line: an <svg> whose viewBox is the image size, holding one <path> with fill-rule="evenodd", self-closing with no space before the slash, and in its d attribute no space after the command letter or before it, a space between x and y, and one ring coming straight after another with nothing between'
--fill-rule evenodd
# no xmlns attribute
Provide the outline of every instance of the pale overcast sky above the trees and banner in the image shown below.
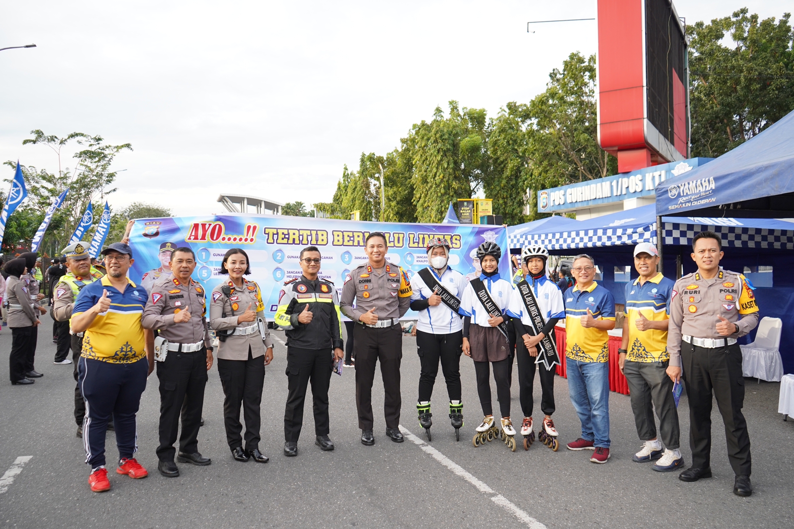
<svg viewBox="0 0 794 529"><path fill-rule="evenodd" d="M692 24L781 0L679 0ZM0 2L0 161L57 170L32 129L130 142L114 207L221 213L222 192L330 202L342 167L385 154L450 99L495 115L595 52L593 0ZM71 156L76 149L67 153ZM64 164L71 167L71 161ZM2 178L12 176L0 169ZM5 185L5 184L4 184Z"/></svg>

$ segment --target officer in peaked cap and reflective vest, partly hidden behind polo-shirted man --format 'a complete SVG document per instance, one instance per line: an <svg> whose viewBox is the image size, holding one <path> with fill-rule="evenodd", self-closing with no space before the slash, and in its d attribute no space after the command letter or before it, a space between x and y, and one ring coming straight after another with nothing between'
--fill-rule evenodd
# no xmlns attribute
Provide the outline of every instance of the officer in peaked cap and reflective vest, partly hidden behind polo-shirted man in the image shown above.
<svg viewBox="0 0 794 529"><path fill-rule="evenodd" d="M60 280L54 288L52 295L52 315L56 322L65 323L65 332L71 338L71 359L69 362L74 362L74 375L75 382L77 381L77 361L80 353L83 351L83 333L73 334L69 330L69 319L71 319L71 310L75 307L75 299L83 287L91 284L96 280L91 275L91 260L88 257L87 245L84 242L75 242L68 245L63 250L69 271L60 276ZM63 333L60 330L59 333ZM67 339L69 339L67 338ZM61 347L61 340L64 336L58 335L58 349ZM69 346L67 346L68 349ZM57 362L56 362L57 363ZM64 362L65 363L65 362ZM75 384L75 421L77 422L77 437L83 437L83 418L86 415L86 403L83 400L83 394L80 392L79 384ZM108 422L108 427L113 427L113 422Z"/></svg>

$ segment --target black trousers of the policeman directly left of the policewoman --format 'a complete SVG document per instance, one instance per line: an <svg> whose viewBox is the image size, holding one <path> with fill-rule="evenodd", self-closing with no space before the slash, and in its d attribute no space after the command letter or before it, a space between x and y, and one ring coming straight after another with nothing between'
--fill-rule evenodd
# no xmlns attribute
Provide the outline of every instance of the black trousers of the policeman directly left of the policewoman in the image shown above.
<svg viewBox="0 0 794 529"><path fill-rule="evenodd" d="M165 361L157 362L160 379L160 446L157 458L173 461L174 442L182 417L182 434L179 451L185 454L198 452L198 428L204 406L206 386L206 349L195 353L168 351Z"/></svg>

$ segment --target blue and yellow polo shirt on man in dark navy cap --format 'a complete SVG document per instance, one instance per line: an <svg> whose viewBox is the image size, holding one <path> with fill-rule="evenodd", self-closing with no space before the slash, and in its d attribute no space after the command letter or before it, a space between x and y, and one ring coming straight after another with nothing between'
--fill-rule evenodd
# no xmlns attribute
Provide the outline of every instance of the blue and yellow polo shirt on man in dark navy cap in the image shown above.
<svg viewBox="0 0 794 529"><path fill-rule="evenodd" d="M72 317L94 307L107 290L110 309L97 315L83 335L80 356L112 364L131 364L145 357L144 328L141 315L146 306L146 290L127 278L124 292L110 284L108 276L87 284L75 300Z"/></svg>

